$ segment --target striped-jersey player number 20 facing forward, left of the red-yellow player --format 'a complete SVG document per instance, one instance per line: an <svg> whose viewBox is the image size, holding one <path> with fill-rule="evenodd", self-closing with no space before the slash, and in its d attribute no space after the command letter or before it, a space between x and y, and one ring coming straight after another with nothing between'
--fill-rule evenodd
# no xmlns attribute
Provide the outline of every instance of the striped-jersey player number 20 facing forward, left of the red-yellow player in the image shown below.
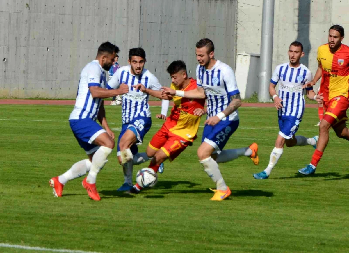
<svg viewBox="0 0 349 253"><path fill-rule="evenodd" d="M123 166L125 182L118 191L132 189L133 164L147 161L149 158L144 153L138 153L137 145L142 144L144 135L151 126L151 113L148 104L149 95L134 88L134 85L142 84L144 87L154 90L161 96L161 84L157 78L144 68L146 52L141 47L129 50L128 63L130 66L119 68L108 82L108 89L116 89L120 84L129 87L127 94L122 96L122 127L118 138L118 159ZM163 105L168 109L169 102Z"/></svg>

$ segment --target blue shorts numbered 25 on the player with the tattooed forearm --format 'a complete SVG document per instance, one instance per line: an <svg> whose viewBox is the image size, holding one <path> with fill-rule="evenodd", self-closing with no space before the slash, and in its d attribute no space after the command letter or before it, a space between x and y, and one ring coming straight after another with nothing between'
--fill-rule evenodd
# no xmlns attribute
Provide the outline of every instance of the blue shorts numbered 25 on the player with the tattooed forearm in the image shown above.
<svg viewBox="0 0 349 253"><path fill-rule="evenodd" d="M214 147L219 154L238 126L239 120L224 120L218 122L215 126L205 125L203 128L201 143L204 141L207 142Z"/></svg>

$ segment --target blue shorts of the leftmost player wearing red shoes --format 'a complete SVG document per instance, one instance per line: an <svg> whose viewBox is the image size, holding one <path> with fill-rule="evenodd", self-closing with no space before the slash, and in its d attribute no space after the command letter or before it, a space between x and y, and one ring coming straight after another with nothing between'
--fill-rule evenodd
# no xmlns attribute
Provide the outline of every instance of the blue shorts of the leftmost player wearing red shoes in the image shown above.
<svg viewBox="0 0 349 253"><path fill-rule="evenodd" d="M90 155L99 148L99 146L92 142L98 135L106 131L96 121L91 118L70 119L69 125L77 142L86 151L86 154Z"/></svg>

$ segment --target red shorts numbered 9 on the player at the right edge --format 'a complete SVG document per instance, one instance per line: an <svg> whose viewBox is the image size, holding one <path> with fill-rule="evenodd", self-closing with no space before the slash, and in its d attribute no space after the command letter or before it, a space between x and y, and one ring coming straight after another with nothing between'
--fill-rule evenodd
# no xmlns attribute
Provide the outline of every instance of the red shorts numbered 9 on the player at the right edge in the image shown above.
<svg viewBox="0 0 349 253"><path fill-rule="evenodd" d="M339 122L347 121L348 107L348 98L343 96L334 97L324 104L325 115L323 119L331 124L331 126L334 126Z"/></svg>

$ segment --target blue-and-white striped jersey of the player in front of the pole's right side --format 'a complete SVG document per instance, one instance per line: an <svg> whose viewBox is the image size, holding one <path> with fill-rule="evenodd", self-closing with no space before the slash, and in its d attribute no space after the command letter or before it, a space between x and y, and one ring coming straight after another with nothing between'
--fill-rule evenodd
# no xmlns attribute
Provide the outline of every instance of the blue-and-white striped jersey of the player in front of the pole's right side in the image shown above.
<svg viewBox="0 0 349 253"><path fill-rule="evenodd" d="M305 105L302 86L312 79L313 75L303 64L293 68L289 66L289 62L286 62L275 68L270 82L275 85L279 82L279 97L283 105L283 108L279 109L279 116L302 118Z"/></svg>

